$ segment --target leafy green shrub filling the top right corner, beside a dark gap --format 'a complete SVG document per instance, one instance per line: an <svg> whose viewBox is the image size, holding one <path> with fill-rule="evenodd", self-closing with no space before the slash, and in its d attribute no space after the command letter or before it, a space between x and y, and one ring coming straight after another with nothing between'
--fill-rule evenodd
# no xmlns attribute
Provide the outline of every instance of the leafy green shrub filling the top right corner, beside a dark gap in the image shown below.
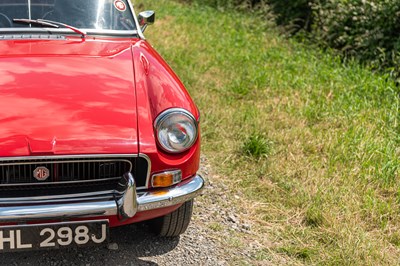
<svg viewBox="0 0 400 266"><path fill-rule="evenodd" d="M392 0L326 0L310 4L312 38L374 69L400 67L400 2Z"/></svg>

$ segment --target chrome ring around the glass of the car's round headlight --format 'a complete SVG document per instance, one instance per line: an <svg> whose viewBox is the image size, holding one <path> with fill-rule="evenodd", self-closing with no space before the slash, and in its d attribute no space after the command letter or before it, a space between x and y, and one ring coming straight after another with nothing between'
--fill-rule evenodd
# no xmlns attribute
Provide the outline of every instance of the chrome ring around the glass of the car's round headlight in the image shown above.
<svg viewBox="0 0 400 266"><path fill-rule="evenodd" d="M160 141L160 138L159 138L159 126L163 122L165 122L167 119L169 119L170 117L172 117L174 115L186 116L188 119L191 120L191 122L194 126L194 130L195 130L194 138L190 141L190 145L188 145L188 147L181 149L181 150L175 150L175 149L170 149L170 148L166 147L165 145L163 145L163 143ZM192 113L190 113L189 111L182 109L182 108L170 108L170 109L167 109L167 110L161 112L157 116L157 118L154 120L153 127L154 127L158 146L167 153L179 154L179 153L188 151L197 142L197 139L199 137L199 122L196 120L196 118L194 117L194 115Z"/></svg>

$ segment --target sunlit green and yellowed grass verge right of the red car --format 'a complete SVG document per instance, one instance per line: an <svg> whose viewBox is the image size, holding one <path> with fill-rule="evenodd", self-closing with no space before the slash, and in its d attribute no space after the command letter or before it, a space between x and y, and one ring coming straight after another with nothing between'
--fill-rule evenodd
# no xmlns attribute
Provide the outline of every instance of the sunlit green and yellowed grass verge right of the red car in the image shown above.
<svg viewBox="0 0 400 266"><path fill-rule="evenodd" d="M238 215L262 243L252 264L397 264L400 102L389 74L252 16L139 2L157 11L146 36L201 110L212 182L239 195ZM240 248L248 237L218 241Z"/></svg>

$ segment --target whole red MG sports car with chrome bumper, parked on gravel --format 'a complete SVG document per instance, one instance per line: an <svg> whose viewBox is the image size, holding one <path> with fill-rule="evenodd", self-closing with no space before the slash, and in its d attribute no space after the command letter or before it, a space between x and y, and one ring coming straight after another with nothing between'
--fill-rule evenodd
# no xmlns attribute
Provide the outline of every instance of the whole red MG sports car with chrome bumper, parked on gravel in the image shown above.
<svg viewBox="0 0 400 266"><path fill-rule="evenodd" d="M200 114L127 0L0 0L0 252L183 233Z"/></svg>

